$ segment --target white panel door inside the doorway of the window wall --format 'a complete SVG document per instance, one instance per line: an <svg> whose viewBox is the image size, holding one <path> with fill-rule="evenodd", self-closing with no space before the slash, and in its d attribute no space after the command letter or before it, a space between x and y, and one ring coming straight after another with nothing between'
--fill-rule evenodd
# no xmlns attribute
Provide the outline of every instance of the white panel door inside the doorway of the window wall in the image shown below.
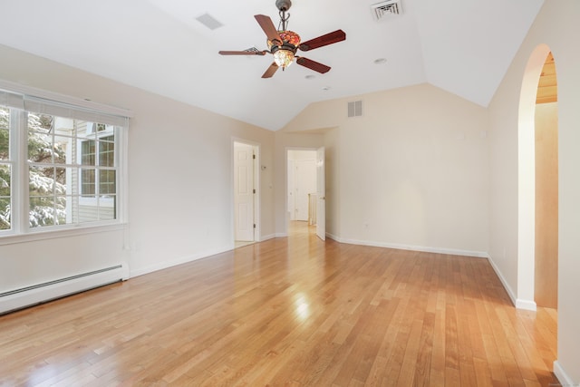
<svg viewBox="0 0 580 387"><path fill-rule="evenodd" d="M235 238L254 241L254 147L234 143Z"/></svg>

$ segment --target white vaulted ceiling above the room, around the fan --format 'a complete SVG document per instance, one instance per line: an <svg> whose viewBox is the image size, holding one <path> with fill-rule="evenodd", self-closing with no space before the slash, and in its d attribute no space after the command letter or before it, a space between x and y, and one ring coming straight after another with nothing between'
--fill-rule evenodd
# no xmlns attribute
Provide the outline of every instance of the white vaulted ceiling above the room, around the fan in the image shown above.
<svg viewBox="0 0 580 387"><path fill-rule="evenodd" d="M293 64L262 79L269 54L218 54L266 49L254 15L277 26L275 0L2 1L0 44L276 131L311 102L423 82L487 106L544 0L401 0L401 15L376 21L379 2L293 0L288 28L303 41L346 33L301 53L325 74Z"/></svg>

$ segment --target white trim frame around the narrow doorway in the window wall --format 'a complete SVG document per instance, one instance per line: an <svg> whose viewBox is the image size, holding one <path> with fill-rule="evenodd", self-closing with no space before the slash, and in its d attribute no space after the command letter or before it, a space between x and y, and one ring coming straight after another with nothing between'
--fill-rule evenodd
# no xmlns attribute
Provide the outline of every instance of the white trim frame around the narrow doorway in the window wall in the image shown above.
<svg viewBox="0 0 580 387"><path fill-rule="evenodd" d="M235 179L236 179L236 168L235 168L235 154L236 154L236 150L235 150L235 144L236 143L241 143L241 144L245 144L245 145L249 145L254 149L254 154L256 155L256 159L254 160L254 168L252 170L253 174L254 174L254 189L256 189L256 194L254 195L254 224L256 225L256 227L254 228L254 242L260 242L261 240L261 232L260 232L260 202L261 202L261 192L260 192L260 143L256 142L256 141L251 141L251 140L245 140L245 139L240 139L237 137L232 137L231 139L231 144L230 144L230 171L231 171L231 176L230 176L230 184L231 184L231 199L230 199L230 205L231 205L231 230L230 230L230 239L232 240L232 243L235 242L236 239L236 192L235 192Z"/></svg>

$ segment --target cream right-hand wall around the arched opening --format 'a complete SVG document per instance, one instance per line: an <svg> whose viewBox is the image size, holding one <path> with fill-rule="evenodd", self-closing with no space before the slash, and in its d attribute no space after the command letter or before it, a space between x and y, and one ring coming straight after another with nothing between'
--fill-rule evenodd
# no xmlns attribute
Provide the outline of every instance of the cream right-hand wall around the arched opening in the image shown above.
<svg viewBox="0 0 580 387"><path fill-rule="evenodd" d="M559 276L558 361L555 372L560 382L575 384L580 383L579 18L580 2L577 0L546 0L489 106L493 188L490 256L507 285L517 292L517 298L528 300L533 297L534 258L529 256L527 246L534 240L533 234L529 240L529 225L518 223L517 200L518 194L523 192L518 192L517 181L518 154L520 157L526 156L533 150L518 145L518 134L522 134L518 133L519 121L526 119L518 117L518 108L527 63L536 48L546 44L554 53L558 81ZM526 254L518 251L518 237L523 242L520 246L527 248Z"/></svg>

